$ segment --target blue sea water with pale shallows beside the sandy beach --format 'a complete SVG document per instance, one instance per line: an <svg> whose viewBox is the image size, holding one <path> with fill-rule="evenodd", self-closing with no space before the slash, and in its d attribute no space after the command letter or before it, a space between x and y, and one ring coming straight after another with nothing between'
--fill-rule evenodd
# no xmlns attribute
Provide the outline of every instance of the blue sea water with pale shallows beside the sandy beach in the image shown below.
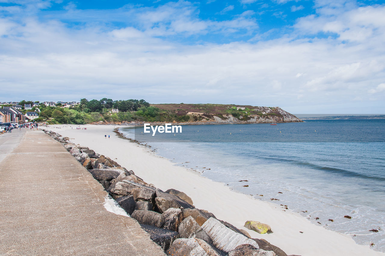
<svg viewBox="0 0 385 256"><path fill-rule="evenodd" d="M176 165L385 251L385 120L120 130Z"/></svg>

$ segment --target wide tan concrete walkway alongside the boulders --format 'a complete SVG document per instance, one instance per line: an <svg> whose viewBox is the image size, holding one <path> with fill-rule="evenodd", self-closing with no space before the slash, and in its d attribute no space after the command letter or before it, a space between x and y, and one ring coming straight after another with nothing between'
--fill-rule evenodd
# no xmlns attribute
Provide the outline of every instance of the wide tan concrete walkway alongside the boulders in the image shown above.
<svg viewBox="0 0 385 256"><path fill-rule="evenodd" d="M134 219L105 210L107 192L59 142L15 131L0 136L6 147L0 255L165 255Z"/></svg>

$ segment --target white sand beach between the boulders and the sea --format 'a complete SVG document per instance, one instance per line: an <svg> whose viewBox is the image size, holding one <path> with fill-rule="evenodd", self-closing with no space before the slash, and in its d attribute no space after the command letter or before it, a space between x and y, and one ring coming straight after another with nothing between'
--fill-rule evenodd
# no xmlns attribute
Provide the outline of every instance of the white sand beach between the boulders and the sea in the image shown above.
<svg viewBox="0 0 385 256"><path fill-rule="evenodd" d="M183 167L174 166L166 158L157 156L151 149L119 138L114 128L124 126L82 125L87 130L76 130L74 125L41 127L71 138L75 144L89 147L97 153L112 158L147 183L162 190L177 189L191 197L194 206L212 212L218 219L239 229L244 222L260 221L271 226L272 234L258 234L247 230L253 238L266 239L288 255L341 256L378 255L367 245L356 244L350 236L326 230L311 224L305 217L280 205L262 202L249 195L234 192L219 182L201 177ZM107 135L107 138L104 137ZM110 138L108 138L110 135Z"/></svg>

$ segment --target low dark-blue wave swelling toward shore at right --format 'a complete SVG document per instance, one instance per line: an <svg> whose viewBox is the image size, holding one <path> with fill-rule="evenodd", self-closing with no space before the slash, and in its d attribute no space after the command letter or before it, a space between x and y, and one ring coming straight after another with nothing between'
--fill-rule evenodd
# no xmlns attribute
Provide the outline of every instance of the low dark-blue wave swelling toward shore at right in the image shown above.
<svg viewBox="0 0 385 256"><path fill-rule="evenodd" d="M308 163L308 162L303 162L299 160L292 160L292 159L285 159L285 158L275 158L275 157L263 157L264 159L269 159L269 160L277 160L280 162L286 162L286 163L291 163L294 165L300 165L300 166L306 166L310 167L314 170L321 170L324 172L330 172L330 173L336 173L345 177L357 177L361 179L368 179L368 180L378 180L378 181L385 181L384 177L378 177L378 176L369 176L365 175L362 173L357 173L349 170L344 170L340 168L333 168L333 167L326 167L326 166L320 166L316 165L314 163Z"/></svg>

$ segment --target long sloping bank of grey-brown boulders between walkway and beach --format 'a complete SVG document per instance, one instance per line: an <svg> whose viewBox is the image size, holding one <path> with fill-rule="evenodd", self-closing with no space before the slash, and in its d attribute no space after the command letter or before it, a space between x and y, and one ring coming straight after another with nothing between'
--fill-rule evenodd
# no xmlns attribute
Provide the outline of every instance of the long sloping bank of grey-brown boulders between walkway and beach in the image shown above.
<svg viewBox="0 0 385 256"><path fill-rule="evenodd" d="M287 256L266 240L251 239L248 232L197 209L185 193L157 189L111 158L43 131L62 143L167 255Z"/></svg>

